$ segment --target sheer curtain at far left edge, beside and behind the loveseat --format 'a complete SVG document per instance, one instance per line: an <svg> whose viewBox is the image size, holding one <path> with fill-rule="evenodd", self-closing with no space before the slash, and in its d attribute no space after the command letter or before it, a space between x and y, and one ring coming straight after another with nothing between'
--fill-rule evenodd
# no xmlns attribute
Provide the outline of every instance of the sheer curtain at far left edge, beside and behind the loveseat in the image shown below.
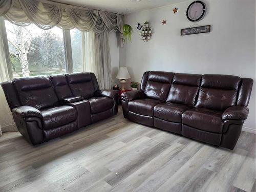
<svg viewBox="0 0 256 192"><path fill-rule="evenodd" d="M9 81L8 67L5 55L4 39L6 37L4 20L0 18L0 82ZM6 101L4 91L0 88L0 135L7 131L17 131L11 111Z"/></svg>

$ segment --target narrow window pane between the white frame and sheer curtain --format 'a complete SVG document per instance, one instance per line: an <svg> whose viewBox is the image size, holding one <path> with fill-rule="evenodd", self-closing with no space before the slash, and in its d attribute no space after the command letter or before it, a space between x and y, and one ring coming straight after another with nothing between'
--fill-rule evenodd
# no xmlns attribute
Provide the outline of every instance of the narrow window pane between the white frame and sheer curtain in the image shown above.
<svg viewBox="0 0 256 192"><path fill-rule="evenodd" d="M73 71L82 71L82 32L77 29L70 30Z"/></svg>

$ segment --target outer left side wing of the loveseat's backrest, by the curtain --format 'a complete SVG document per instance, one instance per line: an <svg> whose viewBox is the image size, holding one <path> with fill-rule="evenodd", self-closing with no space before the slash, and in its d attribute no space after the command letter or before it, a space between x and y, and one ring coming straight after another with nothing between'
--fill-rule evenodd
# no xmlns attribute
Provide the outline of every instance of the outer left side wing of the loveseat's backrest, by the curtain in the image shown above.
<svg viewBox="0 0 256 192"><path fill-rule="evenodd" d="M10 81L2 82L1 86L3 88L7 103L12 111L13 108L20 106L19 98L17 96L16 90Z"/></svg>

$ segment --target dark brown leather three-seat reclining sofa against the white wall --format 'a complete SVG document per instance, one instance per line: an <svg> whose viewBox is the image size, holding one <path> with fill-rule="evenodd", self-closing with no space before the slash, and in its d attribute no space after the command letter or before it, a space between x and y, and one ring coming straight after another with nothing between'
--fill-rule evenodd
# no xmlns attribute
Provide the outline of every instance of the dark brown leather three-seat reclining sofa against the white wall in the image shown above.
<svg viewBox="0 0 256 192"><path fill-rule="evenodd" d="M253 80L231 75L151 71L121 95L132 121L233 149L248 116Z"/></svg>

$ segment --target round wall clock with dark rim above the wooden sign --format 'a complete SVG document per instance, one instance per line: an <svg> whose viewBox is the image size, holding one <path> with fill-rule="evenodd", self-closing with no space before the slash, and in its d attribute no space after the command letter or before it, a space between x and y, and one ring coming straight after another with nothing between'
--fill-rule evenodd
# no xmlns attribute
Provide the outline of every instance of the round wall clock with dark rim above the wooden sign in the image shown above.
<svg viewBox="0 0 256 192"><path fill-rule="evenodd" d="M201 1L191 3L187 8L187 18L191 22L198 22L205 14L206 6Z"/></svg>

